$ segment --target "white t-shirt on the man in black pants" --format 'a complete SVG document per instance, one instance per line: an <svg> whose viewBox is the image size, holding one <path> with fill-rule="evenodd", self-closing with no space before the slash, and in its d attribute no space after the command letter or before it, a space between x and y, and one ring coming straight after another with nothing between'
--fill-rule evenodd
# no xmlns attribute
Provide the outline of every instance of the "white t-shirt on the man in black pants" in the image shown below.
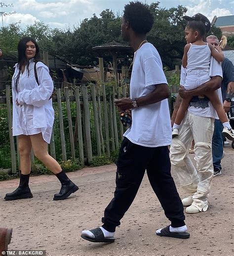
<svg viewBox="0 0 234 256"><path fill-rule="evenodd" d="M158 84L167 84L161 58L151 43L135 52L130 82L131 99L151 93ZM168 100L132 108L132 126L123 134L132 143L145 147L171 144L171 122Z"/></svg>

